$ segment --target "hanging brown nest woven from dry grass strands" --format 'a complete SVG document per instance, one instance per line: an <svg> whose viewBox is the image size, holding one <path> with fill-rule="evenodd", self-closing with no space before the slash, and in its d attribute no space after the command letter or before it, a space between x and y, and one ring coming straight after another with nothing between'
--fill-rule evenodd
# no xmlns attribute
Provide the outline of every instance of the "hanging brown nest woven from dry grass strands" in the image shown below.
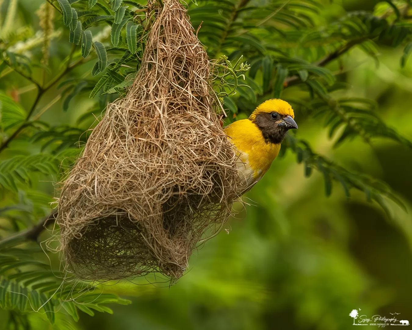
<svg viewBox="0 0 412 330"><path fill-rule="evenodd" d="M186 9L164 1L133 86L108 105L63 184L66 270L91 281L176 279L205 233L222 228L239 178L212 94Z"/></svg>

